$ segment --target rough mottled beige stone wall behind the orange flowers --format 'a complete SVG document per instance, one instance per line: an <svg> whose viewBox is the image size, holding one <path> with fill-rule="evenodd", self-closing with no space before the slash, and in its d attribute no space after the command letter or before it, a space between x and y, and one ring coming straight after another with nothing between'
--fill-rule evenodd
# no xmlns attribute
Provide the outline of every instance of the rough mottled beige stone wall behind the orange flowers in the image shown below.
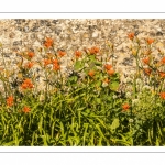
<svg viewBox="0 0 165 165"><path fill-rule="evenodd" d="M6 57L14 58L13 52L24 47L36 50L46 36L54 38L56 48L67 52L68 59L77 48L103 48L110 41L114 44L117 70L122 73L131 73L134 65L129 32L135 32L139 38L156 38L156 46L165 44L165 20L0 20Z"/></svg>

